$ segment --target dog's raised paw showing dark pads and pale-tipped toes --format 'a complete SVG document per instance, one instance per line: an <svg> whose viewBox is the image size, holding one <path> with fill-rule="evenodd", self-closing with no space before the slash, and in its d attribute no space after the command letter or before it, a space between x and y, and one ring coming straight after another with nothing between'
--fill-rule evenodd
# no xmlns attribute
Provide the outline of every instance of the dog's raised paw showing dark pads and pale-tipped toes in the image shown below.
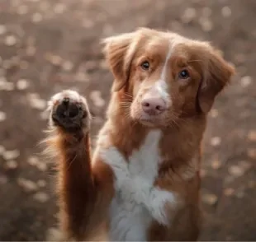
<svg viewBox="0 0 256 242"><path fill-rule="evenodd" d="M65 90L55 94L49 102L50 125L68 132L88 130L90 113L83 96L76 91Z"/></svg>

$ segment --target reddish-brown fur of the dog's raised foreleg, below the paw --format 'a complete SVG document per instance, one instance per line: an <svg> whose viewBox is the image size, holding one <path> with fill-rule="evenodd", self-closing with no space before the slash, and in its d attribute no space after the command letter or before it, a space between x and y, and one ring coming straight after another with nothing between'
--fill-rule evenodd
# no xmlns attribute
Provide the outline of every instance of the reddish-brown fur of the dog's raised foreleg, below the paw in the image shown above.
<svg viewBox="0 0 256 242"><path fill-rule="evenodd" d="M80 140L62 128L55 132L46 142L55 151L60 151L57 193L64 240L94 238L97 230L104 226L102 221L107 216L104 208L113 195L112 172L101 161L92 170L88 133ZM93 212L95 209L97 211ZM91 212L95 216L91 216Z"/></svg>

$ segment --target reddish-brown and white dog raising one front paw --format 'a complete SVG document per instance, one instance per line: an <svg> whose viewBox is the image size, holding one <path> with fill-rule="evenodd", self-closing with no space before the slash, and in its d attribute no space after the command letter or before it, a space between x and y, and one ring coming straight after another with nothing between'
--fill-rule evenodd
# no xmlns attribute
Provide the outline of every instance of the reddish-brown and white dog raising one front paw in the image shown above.
<svg viewBox="0 0 256 242"><path fill-rule="evenodd" d="M235 68L211 44L162 30L102 44L114 81L93 155L87 100L65 90L49 105L64 240L197 240L206 117Z"/></svg>

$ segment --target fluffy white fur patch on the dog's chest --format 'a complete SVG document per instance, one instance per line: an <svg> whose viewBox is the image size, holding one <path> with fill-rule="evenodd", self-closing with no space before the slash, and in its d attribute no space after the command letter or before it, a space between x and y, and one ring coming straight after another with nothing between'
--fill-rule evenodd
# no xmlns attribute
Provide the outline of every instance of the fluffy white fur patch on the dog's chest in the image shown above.
<svg viewBox="0 0 256 242"><path fill-rule="evenodd" d="M145 241L152 219L167 225L164 212L166 202L175 202L168 191L154 187L158 175L159 130L149 132L140 149L132 152L126 162L116 147L101 151L101 156L116 176L116 197L110 208L110 240Z"/></svg>

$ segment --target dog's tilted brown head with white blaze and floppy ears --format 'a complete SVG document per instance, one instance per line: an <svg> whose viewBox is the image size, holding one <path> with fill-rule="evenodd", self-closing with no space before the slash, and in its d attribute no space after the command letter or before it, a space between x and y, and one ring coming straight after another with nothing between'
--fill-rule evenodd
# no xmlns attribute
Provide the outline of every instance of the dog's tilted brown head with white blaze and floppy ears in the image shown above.
<svg viewBox="0 0 256 242"><path fill-rule="evenodd" d="M121 108L150 127L206 114L234 68L206 42L140 28L103 41Z"/></svg>

